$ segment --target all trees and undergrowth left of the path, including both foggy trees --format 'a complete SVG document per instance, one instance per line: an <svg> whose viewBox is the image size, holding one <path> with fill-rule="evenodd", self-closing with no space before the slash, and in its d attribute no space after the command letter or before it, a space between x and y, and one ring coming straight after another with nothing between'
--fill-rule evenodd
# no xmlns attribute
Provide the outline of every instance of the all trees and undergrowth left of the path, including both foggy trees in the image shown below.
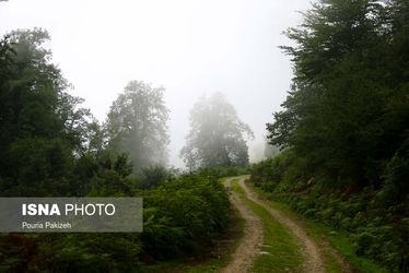
<svg viewBox="0 0 409 273"><path fill-rule="evenodd" d="M1 234L0 271L129 272L203 251L227 224L218 178L248 165L242 134L249 128L222 94L201 99L183 151L190 171L167 168L163 87L130 81L100 123L69 94L43 47L48 38L20 29L0 44L1 197L142 197L143 233ZM208 115L222 123L208 123ZM219 139L203 143L210 128Z"/></svg>

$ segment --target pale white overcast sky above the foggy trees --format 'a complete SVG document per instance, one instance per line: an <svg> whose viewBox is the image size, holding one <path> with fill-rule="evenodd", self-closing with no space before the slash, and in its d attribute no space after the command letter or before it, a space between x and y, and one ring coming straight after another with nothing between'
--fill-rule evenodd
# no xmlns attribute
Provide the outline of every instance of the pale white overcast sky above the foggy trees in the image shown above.
<svg viewBox="0 0 409 273"><path fill-rule="evenodd" d="M9 0L0 2L0 34L47 29L54 62L73 95L101 121L130 80L166 88L171 164L202 94L222 92L255 132L262 153L265 123L280 109L292 78L282 35L301 23L308 0ZM256 151L256 152L254 152Z"/></svg>

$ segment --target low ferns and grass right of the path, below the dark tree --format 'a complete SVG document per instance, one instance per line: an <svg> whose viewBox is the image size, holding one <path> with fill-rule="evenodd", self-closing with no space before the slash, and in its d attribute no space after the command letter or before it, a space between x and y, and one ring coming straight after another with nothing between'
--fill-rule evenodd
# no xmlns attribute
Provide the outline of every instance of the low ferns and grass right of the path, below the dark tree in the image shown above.
<svg viewBox="0 0 409 273"><path fill-rule="evenodd" d="M266 165L266 162L260 165ZM260 165L256 165L255 168ZM318 245L324 236L324 239L339 251L352 269L359 272L394 271L390 268L393 263L388 264L385 260L376 258L382 257L383 251L384 256L390 256L392 250L396 251L395 257L400 257L398 252L405 251L406 248L400 245L405 234L404 230L395 229L393 224L382 222L383 215L379 211L383 209L371 209L370 200L375 198L374 195L354 193L346 199L341 191L334 192L331 189L323 189L316 185L304 186L300 191L292 188L294 183L288 185L288 188L280 183L273 187L271 180L260 182L255 177L252 178L252 182L258 181L256 185L260 194L271 200L274 206L288 211L288 214L292 214L294 218L301 218ZM362 251L363 249L366 251Z"/></svg>

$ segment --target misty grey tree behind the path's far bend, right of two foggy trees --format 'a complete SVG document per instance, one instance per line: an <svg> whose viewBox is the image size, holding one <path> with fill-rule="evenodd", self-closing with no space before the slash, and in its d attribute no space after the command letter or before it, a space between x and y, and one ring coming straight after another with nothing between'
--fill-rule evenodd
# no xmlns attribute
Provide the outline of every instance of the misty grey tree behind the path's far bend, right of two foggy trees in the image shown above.
<svg viewBox="0 0 409 273"><path fill-rule="evenodd" d="M180 151L189 169L248 164L245 136L253 132L223 94L200 98L190 111L190 127Z"/></svg>

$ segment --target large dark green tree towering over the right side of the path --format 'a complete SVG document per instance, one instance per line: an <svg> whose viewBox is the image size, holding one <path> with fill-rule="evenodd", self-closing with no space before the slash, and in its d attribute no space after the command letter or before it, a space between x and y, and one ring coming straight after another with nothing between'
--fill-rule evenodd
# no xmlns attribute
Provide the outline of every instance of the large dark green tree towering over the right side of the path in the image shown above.
<svg viewBox="0 0 409 273"><path fill-rule="evenodd" d="M267 127L271 143L334 180L381 186L385 162L408 138L407 11L406 1L314 4L288 32L295 78Z"/></svg>

